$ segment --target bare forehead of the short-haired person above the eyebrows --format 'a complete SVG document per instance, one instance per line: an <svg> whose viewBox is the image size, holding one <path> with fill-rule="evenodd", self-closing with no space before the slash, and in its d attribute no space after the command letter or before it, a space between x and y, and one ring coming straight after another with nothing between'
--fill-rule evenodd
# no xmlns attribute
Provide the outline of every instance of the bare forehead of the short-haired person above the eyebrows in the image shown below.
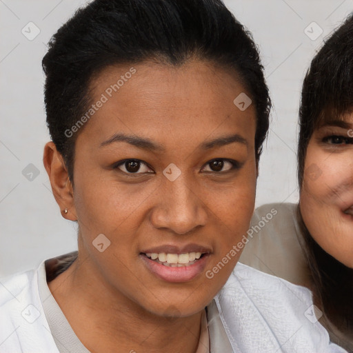
<svg viewBox="0 0 353 353"><path fill-rule="evenodd" d="M163 131L187 140L195 134L207 137L216 130L235 129L251 137L255 133L255 109L251 103L245 110L234 104L241 94L251 101L236 72L209 62L110 66L91 83L91 102L104 97L105 103L94 112L86 135L106 138L123 130L129 134L147 132L163 139Z"/></svg>

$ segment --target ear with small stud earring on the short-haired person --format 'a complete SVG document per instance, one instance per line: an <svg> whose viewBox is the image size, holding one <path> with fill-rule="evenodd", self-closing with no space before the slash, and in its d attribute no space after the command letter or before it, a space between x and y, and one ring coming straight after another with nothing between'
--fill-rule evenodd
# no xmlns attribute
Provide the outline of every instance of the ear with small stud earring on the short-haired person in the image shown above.
<svg viewBox="0 0 353 353"><path fill-rule="evenodd" d="M77 221L77 213L74 207L74 192L68 170L63 157L57 151L57 147L52 141L46 143L44 146L43 164L48 173L50 184L52 185L52 193L60 207L61 215L65 219L70 219L70 221ZM68 210L67 213L65 213L65 209Z"/></svg>

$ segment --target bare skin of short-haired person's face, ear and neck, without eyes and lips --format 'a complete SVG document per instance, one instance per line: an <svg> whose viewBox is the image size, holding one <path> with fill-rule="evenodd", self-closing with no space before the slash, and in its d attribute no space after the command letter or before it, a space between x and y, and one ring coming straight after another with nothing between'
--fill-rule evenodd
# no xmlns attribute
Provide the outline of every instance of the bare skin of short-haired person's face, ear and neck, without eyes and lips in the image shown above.
<svg viewBox="0 0 353 353"><path fill-rule="evenodd" d="M194 352L204 307L225 284L239 254L212 279L221 261L248 230L256 188L253 105L233 100L246 92L234 72L191 60L179 68L149 62L94 114L79 132L74 188L61 155L49 142L43 162L66 219L79 223L79 258L48 283L74 332L91 352ZM92 82L97 101L130 66L105 68ZM115 133L148 138L163 151L127 142L100 147ZM203 149L201 143L239 134ZM140 174L127 174L124 159L139 159ZM224 162L212 171L212 159ZM181 171L170 181L163 170ZM125 172L125 173L124 173ZM105 234L110 246L92 245ZM140 253L159 245L195 243L210 249L203 271L183 283L150 272Z"/></svg>

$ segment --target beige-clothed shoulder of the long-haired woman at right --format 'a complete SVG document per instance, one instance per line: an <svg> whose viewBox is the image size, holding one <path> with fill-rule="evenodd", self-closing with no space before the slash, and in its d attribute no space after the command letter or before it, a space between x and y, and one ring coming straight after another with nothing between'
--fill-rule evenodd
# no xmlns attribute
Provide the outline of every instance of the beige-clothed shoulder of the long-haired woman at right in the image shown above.
<svg viewBox="0 0 353 353"><path fill-rule="evenodd" d="M257 208L240 261L292 283L310 285L297 207L294 203L270 203Z"/></svg>

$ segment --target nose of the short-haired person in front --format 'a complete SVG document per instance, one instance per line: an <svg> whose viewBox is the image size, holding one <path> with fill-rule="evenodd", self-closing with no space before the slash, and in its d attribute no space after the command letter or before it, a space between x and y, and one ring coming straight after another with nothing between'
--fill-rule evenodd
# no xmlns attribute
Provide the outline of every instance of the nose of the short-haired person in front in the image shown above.
<svg viewBox="0 0 353 353"><path fill-rule="evenodd" d="M201 195L182 177L165 179L155 196L158 203L150 216L154 228L187 234L206 224L208 212Z"/></svg>

